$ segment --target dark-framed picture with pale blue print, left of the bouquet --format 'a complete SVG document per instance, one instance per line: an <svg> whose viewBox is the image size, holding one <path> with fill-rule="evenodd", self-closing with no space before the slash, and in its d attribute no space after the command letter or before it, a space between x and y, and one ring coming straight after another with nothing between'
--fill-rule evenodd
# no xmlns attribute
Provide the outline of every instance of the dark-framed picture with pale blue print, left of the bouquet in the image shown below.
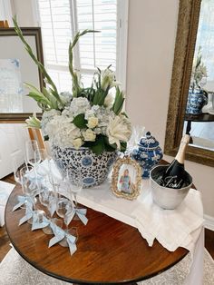
<svg viewBox="0 0 214 285"><path fill-rule="evenodd" d="M44 64L41 28L22 28L22 32L37 59ZM43 74L26 53L14 28L0 28L0 46L0 123L24 122L34 112L41 117L41 109L27 96L24 83L42 90Z"/></svg>

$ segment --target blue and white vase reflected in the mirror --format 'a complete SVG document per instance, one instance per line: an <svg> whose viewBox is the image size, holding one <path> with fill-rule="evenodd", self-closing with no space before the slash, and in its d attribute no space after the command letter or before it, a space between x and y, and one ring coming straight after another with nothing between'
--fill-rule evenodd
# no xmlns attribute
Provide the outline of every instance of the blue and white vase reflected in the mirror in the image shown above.
<svg viewBox="0 0 214 285"><path fill-rule="evenodd" d="M190 88L187 102L186 113L200 114L202 108L208 103L208 98L200 88Z"/></svg>

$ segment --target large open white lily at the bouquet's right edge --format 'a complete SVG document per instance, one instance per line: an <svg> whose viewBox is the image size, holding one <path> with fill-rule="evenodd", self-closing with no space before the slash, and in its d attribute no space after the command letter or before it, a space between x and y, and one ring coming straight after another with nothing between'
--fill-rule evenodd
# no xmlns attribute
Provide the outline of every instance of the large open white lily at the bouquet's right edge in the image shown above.
<svg viewBox="0 0 214 285"><path fill-rule="evenodd" d="M131 123L123 115L116 116L114 119L110 119L106 133L109 137L109 143L116 143L120 150L121 142L128 142L131 137Z"/></svg>

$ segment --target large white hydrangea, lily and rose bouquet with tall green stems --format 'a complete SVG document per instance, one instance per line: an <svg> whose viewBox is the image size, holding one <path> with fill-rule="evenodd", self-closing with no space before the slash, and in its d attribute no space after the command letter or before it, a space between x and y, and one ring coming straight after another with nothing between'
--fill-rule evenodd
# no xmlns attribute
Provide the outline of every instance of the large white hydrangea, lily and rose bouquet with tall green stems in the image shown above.
<svg viewBox="0 0 214 285"><path fill-rule="evenodd" d="M73 69L73 48L84 34L96 33L92 30L78 32L69 45L69 70L73 80L72 93L58 93L44 65L37 61L31 47L26 43L21 29L14 18L15 31L24 43L25 49L44 75L46 87L40 92L33 85L28 96L34 98L44 111L42 120L36 116L26 120L28 126L41 128L45 140L60 147L88 147L100 154L104 151L126 150L131 137L131 123L122 112L124 95L115 80L111 65L93 74L92 85L85 88L79 74ZM115 95L112 93L115 89Z"/></svg>

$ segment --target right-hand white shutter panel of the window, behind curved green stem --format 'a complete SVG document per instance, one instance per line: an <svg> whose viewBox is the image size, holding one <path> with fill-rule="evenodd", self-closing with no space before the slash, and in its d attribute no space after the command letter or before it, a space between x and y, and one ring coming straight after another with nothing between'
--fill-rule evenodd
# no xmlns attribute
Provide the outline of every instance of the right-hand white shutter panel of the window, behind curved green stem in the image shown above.
<svg viewBox="0 0 214 285"><path fill-rule="evenodd" d="M93 29L102 33L88 34L80 39L81 69L101 69L112 64L116 69L117 55L117 1L76 1L79 30Z"/></svg>

